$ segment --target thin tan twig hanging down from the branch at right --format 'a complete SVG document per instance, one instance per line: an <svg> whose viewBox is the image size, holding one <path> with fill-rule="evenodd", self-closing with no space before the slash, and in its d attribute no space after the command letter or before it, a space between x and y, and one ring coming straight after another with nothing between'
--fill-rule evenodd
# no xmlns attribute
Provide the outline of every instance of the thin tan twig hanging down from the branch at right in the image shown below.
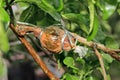
<svg viewBox="0 0 120 80"><path fill-rule="evenodd" d="M96 56L98 57L99 59L99 62L100 62L100 66L102 68L102 75L104 77L104 80L107 80L107 75L106 75L106 71L105 71L105 67L104 67L104 62L103 62L103 59L102 59L102 55L98 52L97 48L96 48L96 44L94 44L94 51L95 51L95 54Z"/></svg>

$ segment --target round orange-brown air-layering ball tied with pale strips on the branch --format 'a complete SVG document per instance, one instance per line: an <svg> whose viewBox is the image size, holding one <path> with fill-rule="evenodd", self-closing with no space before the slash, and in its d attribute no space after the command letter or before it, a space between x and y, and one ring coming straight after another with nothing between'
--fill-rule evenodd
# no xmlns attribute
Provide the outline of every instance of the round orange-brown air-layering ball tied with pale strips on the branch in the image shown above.
<svg viewBox="0 0 120 80"><path fill-rule="evenodd" d="M74 49L77 42L71 34L67 36L64 30L55 26L42 30L37 38L40 40L42 48L53 53Z"/></svg>

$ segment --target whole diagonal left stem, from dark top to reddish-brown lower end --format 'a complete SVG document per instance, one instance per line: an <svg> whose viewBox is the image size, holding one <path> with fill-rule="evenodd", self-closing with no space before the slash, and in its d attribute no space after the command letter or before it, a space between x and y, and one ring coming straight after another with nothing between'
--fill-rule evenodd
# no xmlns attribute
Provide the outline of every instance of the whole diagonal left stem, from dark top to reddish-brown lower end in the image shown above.
<svg viewBox="0 0 120 80"><path fill-rule="evenodd" d="M24 38L24 36L19 36L19 33L16 31L16 26L14 26L16 24L15 22L15 18L14 18L14 14L13 14L13 10L12 7L10 6L10 4L8 4L8 0L5 0L6 2L6 10L8 9L9 11L9 15L10 15L10 28L11 30L16 34L16 36L19 38L19 40L23 43L23 45L27 48L27 50L29 51L30 55L34 58L34 60L38 63L38 65L41 67L41 69L45 72L45 74L51 79L51 80L59 80L59 78L57 78L44 64L44 62L42 61L42 59L39 57L39 55L36 53L36 51L33 49L33 47L30 45L30 43ZM14 0L11 0L10 3L14 2ZM33 29L33 28L32 28ZM26 29L27 30L27 29ZM31 30L31 29L30 29ZM36 31L36 29L35 29ZM36 31L37 32L37 31ZM36 34L37 35L37 34Z"/></svg>

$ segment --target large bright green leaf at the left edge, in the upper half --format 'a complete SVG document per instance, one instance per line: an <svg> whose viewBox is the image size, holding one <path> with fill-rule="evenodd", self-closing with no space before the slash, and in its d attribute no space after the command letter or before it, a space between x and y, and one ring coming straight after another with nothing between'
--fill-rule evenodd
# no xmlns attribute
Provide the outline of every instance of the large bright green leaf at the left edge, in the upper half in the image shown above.
<svg viewBox="0 0 120 80"><path fill-rule="evenodd" d="M9 50L8 39L4 29L5 27L8 27L9 21L8 14L0 7L0 50L4 52Z"/></svg>

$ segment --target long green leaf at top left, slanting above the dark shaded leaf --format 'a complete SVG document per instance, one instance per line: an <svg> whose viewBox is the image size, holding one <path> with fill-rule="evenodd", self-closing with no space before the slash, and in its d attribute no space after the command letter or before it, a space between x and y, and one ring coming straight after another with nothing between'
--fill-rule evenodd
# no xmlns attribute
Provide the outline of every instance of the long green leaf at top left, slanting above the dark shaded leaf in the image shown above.
<svg viewBox="0 0 120 80"><path fill-rule="evenodd" d="M40 9L51 15L56 21L60 21L61 16L57 10L48 3L47 0L16 0L16 2L24 2L37 5Z"/></svg>

